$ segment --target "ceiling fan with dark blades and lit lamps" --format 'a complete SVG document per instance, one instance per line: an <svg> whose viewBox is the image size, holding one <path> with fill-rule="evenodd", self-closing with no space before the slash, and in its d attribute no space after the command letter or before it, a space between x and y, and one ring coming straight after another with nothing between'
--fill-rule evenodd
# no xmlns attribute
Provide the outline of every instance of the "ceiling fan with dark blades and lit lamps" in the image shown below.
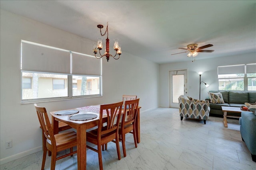
<svg viewBox="0 0 256 170"><path fill-rule="evenodd" d="M203 52L203 53L212 53L214 50L202 50L208 47L212 47L212 44L208 44L208 45L204 45L202 47L197 47L198 44L189 44L187 45L187 48L179 48L179 49L183 49L183 50L187 50L185 52L181 52L181 53L188 53L188 57L196 57L198 55L198 52ZM175 53L175 54L180 54L180 53ZM172 54L172 55L175 55Z"/></svg>

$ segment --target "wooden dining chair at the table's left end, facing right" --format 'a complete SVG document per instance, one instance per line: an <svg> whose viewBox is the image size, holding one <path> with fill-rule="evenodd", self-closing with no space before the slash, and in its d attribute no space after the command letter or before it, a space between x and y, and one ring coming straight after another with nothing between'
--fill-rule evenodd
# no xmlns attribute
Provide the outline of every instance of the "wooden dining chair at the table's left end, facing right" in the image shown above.
<svg viewBox="0 0 256 170"><path fill-rule="evenodd" d="M76 132L68 130L54 135L53 128L46 112L46 108L39 107L36 104L34 104L34 106L36 107L40 126L42 127L42 131L45 137L45 140L43 140L43 159L41 170L44 169L47 150L48 152L52 152L51 170L54 170L56 160L67 156L73 156L73 154L77 152L73 151L73 147L76 146ZM57 152L66 149L70 149L70 153L57 157Z"/></svg>

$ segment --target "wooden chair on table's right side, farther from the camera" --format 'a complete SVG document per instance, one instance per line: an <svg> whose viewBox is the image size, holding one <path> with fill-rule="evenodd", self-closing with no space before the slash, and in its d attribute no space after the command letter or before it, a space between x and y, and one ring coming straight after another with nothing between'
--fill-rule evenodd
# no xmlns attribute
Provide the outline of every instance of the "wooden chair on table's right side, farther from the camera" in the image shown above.
<svg viewBox="0 0 256 170"><path fill-rule="evenodd" d="M136 116L138 111L140 99L136 100L127 100L124 103L124 113L122 116L121 125L119 125L119 137L120 141L122 141L123 154L126 157L126 149L125 149L125 135L126 133L132 133L134 138L134 144L137 148L137 139L136 139Z"/></svg>

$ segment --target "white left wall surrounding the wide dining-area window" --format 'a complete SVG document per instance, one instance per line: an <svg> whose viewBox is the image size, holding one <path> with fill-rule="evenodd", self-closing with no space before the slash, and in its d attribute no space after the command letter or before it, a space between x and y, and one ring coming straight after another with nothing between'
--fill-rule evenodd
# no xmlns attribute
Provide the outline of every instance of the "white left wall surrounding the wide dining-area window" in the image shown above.
<svg viewBox="0 0 256 170"><path fill-rule="evenodd" d="M0 163L42 150L42 133L34 104L20 104L20 40L92 55L94 41L49 25L0 11ZM86 31L86 30L85 30ZM159 106L159 65L123 52L120 59L103 59L103 96L38 103L50 111L122 101L137 95L141 111ZM12 140L12 148L5 142Z"/></svg>

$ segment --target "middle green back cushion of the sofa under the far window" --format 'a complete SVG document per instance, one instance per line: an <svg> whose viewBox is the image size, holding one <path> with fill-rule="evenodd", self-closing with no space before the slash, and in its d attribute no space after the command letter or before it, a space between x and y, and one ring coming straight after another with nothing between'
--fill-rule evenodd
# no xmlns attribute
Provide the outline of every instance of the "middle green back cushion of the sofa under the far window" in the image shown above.
<svg viewBox="0 0 256 170"><path fill-rule="evenodd" d="M248 92L230 91L228 97L229 97L229 103L244 104L249 102Z"/></svg>

